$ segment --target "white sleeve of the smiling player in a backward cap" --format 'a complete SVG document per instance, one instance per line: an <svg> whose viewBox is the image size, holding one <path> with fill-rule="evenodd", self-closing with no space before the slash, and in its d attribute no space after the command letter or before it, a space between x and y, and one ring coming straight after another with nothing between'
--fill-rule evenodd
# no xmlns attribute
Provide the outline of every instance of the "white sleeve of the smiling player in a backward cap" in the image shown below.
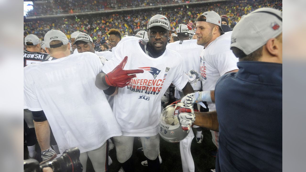
<svg viewBox="0 0 306 172"><path fill-rule="evenodd" d="M238 58L233 54L232 50L226 50L221 53L215 54L214 65L218 69L220 76L225 73L238 69Z"/></svg>

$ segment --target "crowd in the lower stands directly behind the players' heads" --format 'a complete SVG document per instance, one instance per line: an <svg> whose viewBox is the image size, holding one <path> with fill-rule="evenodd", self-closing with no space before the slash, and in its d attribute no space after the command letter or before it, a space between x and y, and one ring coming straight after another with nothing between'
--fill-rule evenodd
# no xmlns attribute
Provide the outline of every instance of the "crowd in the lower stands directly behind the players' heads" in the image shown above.
<svg viewBox="0 0 306 172"><path fill-rule="evenodd" d="M62 2L65 4L66 1ZM91 1L84 1L80 3L90 3ZM112 1L115 2L115 1ZM132 2L132 1L127 1ZM159 3L165 1L160 0ZM167 2L170 2L169 0ZM99 2L100 3L100 2ZM135 3L135 2L134 2ZM72 3L70 3L71 6ZM79 6L78 3L74 3L73 6ZM177 7L175 9L160 9L151 11L131 11L126 12L124 15L120 14L103 14L96 15L94 17L88 17L82 15L81 17L75 18L46 18L37 19L32 21L24 21L24 36L28 34L37 35L41 40L43 36L50 29L57 29L66 34L70 39L70 34L75 31L88 33L96 48L107 41L107 32L111 28L116 28L121 32L121 36L128 35L133 36L140 30L145 30L147 27L147 17L153 16L157 12L168 17L170 19L170 26L176 29L179 24L192 24L195 27L195 19L203 11L214 10L220 15L227 15L229 17L229 26L233 28L236 23L240 20L241 16L250 13L254 9L261 7L271 7L282 11L282 1L274 0L260 0L260 1L249 1L249 0L234 0L229 2L220 3L207 3L201 7ZM43 7L49 10L48 8ZM34 8L35 9L35 8ZM51 10L53 11L53 10ZM99 49L96 49L99 50Z"/></svg>

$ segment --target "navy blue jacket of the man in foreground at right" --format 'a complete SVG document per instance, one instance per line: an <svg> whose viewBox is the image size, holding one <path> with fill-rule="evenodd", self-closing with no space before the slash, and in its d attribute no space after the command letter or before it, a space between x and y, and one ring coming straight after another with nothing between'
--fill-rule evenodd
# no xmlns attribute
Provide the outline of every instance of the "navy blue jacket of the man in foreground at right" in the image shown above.
<svg viewBox="0 0 306 172"><path fill-rule="evenodd" d="M238 62L215 87L216 171L282 171L282 64Z"/></svg>

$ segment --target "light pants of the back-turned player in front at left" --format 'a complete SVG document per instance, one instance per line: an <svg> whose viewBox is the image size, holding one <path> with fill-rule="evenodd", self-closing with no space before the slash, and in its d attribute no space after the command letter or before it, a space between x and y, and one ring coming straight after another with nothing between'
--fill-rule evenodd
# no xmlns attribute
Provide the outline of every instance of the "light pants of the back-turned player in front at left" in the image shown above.
<svg viewBox="0 0 306 172"><path fill-rule="evenodd" d="M80 154L80 162L83 166L83 172L86 172L87 158L89 157L95 172L104 172L108 170L108 141L100 148L83 152Z"/></svg>

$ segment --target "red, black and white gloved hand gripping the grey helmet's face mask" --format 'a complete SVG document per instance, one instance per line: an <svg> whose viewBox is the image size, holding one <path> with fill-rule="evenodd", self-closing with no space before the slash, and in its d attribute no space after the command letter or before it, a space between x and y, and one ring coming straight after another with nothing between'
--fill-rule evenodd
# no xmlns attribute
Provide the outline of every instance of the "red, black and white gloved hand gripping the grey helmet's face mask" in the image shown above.
<svg viewBox="0 0 306 172"><path fill-rule="evenodd" d="M185 105L178 110L177 118L181 123L182 129L185 131L190 130L192 123L195 121L196 116L192 107L192 96L186 97Z"/></svg>

